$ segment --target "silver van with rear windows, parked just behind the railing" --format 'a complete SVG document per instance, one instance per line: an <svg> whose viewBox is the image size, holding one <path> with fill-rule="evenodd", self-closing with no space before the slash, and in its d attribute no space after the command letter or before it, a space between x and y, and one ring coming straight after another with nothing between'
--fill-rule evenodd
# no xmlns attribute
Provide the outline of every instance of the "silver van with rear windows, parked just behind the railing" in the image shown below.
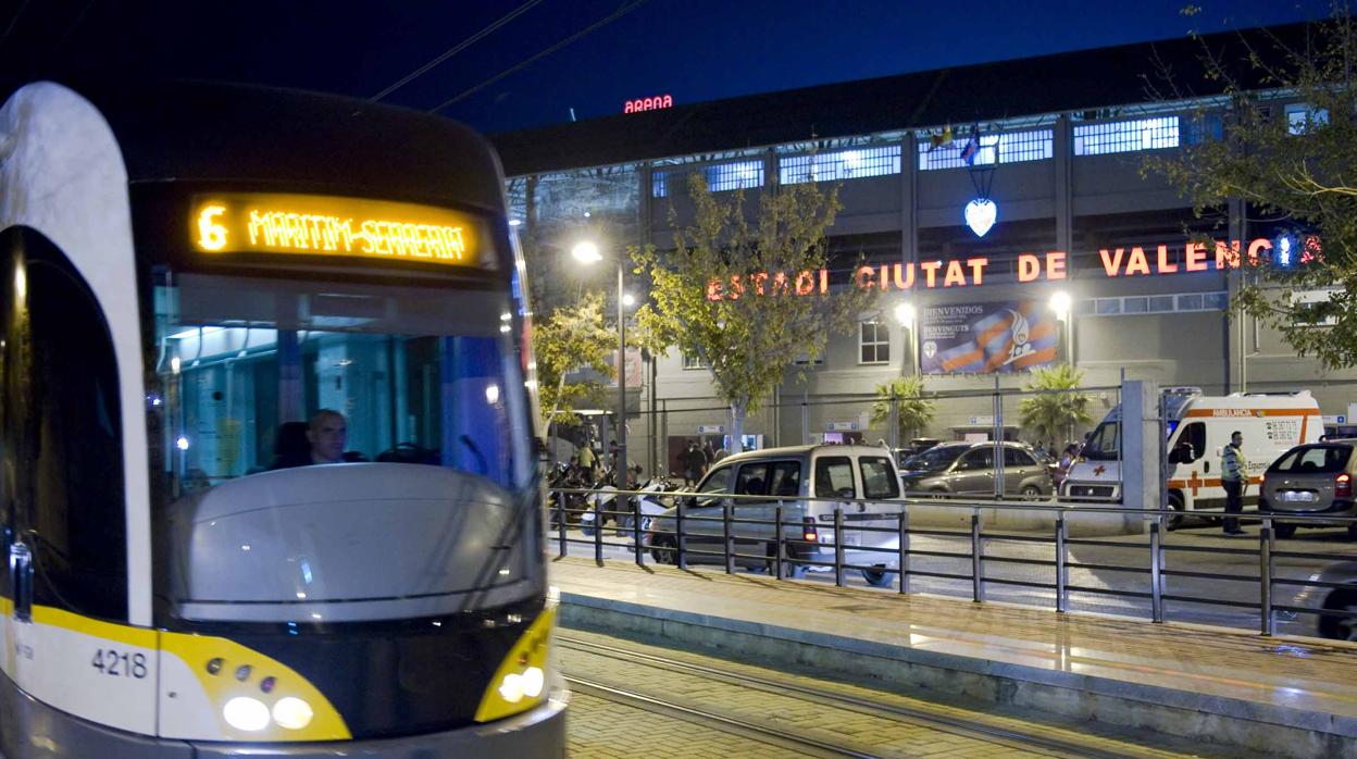
<svg viewBox="0 0 1357 759"><path fill-rule="evenodd" d="M749 496L731 498L730 496ZM761 496L761 497L754 497ZM817 498L807 501L806 498ZM820 500L824 498L824 500ZM792 562L835 558L835 509L844 512L844 563L863 566L863 578L890 585L898 569L896 528L904 506L900 475L889 451L868 445L797 445L729 456L712 464L684 505L685 559L692 563L725 561L722 513L731 506L735 563L764 569L776 555L775 509L782 505L783 540ZM657 516L646 543L661 563L674 563L677 508ZM852 546L852 549L848 549ZM863 550L882 549L877 550ZM802 576L803 563L790 574Z"/></svg>

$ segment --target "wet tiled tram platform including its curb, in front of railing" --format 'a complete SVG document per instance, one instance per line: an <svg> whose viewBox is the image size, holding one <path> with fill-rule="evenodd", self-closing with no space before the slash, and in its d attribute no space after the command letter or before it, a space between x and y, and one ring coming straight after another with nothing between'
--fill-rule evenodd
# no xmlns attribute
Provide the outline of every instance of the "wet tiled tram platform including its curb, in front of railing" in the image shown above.
<svg viewBox="0 0 1357 759"><path fill-rule="evenodd" d="M1357 645L565 558L569 626L1276 756L1357 756Z"/></svg>

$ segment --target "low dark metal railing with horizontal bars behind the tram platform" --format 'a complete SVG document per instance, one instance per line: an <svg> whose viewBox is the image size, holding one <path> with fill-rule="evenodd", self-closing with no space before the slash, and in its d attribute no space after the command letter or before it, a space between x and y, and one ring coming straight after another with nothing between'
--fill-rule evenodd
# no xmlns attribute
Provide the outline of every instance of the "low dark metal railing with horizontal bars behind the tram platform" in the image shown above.
<svg viewBox="0 0 1357 759"><path fill-rule="evenodd" d="M581 490L552 489L556 505L548 519L554 531L554 542L560 557L570 555L571 546L590 546L594 561L603 566L605 549L622 547L630 551L635 563L645 566L647 557L658 563L672 563L688 569L693 563L711 563L734 573L737 568L767 570L779 580L801 577L807 569L820 568L832 572L835 584L845 585L847 572L862 572L864 580L875 585L890 585L898 578L898 593L913 592L913 582L920 578L951 582L969 582L970 596L976 603L987 600L992 588L1018 588L1023 591L1049 592L1056 611L1071 611L1071 595L1117 600L1148 601L1148 616L1152 622L1164 622L1170 604L1198 604L1227 610L1250 610L1255 614L1257 629L1263 635L1276 634L1277 616L1314 615L1316 626L1323 627L1323 619L1348 621L1357 627L1357 612L1343 607L1357 607L1357 551L1338 554L1327 551L1278 550L1274 538L1274 523L1305 525L1350 525L1357 517L1327 515L1278 515L1246 512L1239 515L1246 521L1261 521L1257 542L1232 539L1239 546L1185 544L1167 542L1166 525L1172 517L1193 519L1204 516L1219 519L1220 511L1172 512L1167 509L1133 509L1107 504L1052 504L1030 500L938 500L912 498L904 501L860 501L818 497L771 497L771 496L704 496L706 505L699 505L700 496L692 493L660 494L672 498L673 506L662 513L646 513L639 497L655 497L655 493L638 490ZM598 494L612 497L613 508L596 509L593 498ZM574 498L571 498L574 496ZM635 497L635 498L634 498ZM574 504L574 505L570 505ZM911 513L927 513L927 521L954 521L954 525L911 524ZM593 515L597 520L585 530L584 538L571 535L573 527ZM955 516L950 516L955 513ZM938 519L942 516L942 519ZM1026 517L1031 521L1048 521L1049 527L1008 528L993 524L1000 517ZM613 520L613 525L603 523ZM1101 523L1102 527L1121 520L1124 532L1117 535L1072 536L1072 524ZM871 521L873 524L862 524ZM1144 527L1144 532L1136 528ZM1129 530L1128 530L1129 528ZM609 540L605 532L612 531ZM1137 539L1144 535L1144 539ZM942 543L921 546L920 538ZM965 550L954 549L963 544ZM1004 555L1000 551L987 551L987 546L1050 546L1049 555ZM1141 554L1144 563L1126 561L1110 562L1079 559L1073 553L1079 549L1101 549L1110 553ZM1216 568L1194 568L1193 557L1224 557L1238 559L1250 557L1248 563L1257 566L1257 574L1221 572ZM879 559L879 561L878 561ZM924 566L923 559L942 562L969 562L969 572L949 566ZM1341 580L1320 580L1311 572L1307 577L1289 577L1278 573L1278 561L1297 562L1353 562L1350 573ZM1000 568L1029 566L1049 570L1050 580L1011 577L997 572ZM1295 568L1293 568L1295 569ZM1311 568L1312 569L1312 568ZM1115 576L1141 576L1139 587L1095 587L1071 580L1071 572L1110 573ZM875 581L873 581L875 580ZM882 582L883 580L883 582ZM1172 582L1209 581L1223 589L1238 591L1240 587L1257 585L1257 595L1238 597L1238 592L1210 592L1190 595L1175 592ZM1280 592L1299 589L1300 597L1311 592L1330 595L1334 591L1353 593L1352 601L1316 606L1278 603ZM1011 600L1011 599L1006 599ZM1029 603L1019 599L1016 603ZM1126 615L1125 610L1111 614Z"/></svg>

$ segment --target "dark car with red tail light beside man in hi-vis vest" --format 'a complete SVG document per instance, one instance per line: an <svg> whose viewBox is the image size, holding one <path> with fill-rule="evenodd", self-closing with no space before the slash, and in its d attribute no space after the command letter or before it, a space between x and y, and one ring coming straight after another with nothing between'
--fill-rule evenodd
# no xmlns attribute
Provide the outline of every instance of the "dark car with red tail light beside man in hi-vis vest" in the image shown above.
<svg viewBox="0 0 1357 759"><path fill-rule="evenodd" d="M1277 538L1291 538L1297 527L1333 527L1343 521L1323 519L1282 521L1286 515L1357 516L1353 479L1357 478L1357 439L1296 445L1263 473L1258 511L1273 515ZM1357 539L1357 524L1346 523Z"/></svg>

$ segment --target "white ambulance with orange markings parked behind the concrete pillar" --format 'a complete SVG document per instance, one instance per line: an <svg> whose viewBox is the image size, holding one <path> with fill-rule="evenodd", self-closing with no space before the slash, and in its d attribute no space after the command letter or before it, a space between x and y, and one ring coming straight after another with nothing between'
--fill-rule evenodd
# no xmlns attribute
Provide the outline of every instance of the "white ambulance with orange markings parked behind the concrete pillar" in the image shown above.
<svg viewBox="0 0 1357 759"><path fill-rule="evenodd" d="M1220 483L1220 452L1236 430L1244 436L1248 482L1278 456L1301 443L1315 443L1324 432L1319 403L1308 390L1295 392L1234 392L1202 395L1190 387L1164 388L1168 464L1164 468L1168 505L1175 512L1219 509L1225 505ZM1079 460L1060 486L1063 501L1121 498L1121 406L1113 407L1094 429ZM1246 490L1244 502L1258 501L1258 487ZM1170 527L1182 521L1179 515Z"/></svg>

